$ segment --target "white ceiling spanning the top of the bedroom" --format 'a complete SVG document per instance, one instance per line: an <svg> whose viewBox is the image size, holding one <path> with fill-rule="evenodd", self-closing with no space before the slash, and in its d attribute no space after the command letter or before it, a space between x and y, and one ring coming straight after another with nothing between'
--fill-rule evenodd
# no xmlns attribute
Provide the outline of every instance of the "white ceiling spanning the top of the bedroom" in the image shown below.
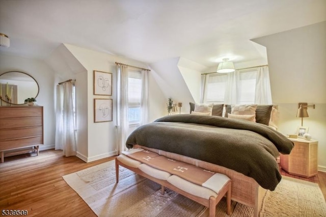
<svg viewBox="0 0 326 217"><path fill-rule="evenodd" d="M146 63L262 58L251 39L326 20L325 0L0 0L0 52L45 59L69 43Z"/></svg>

